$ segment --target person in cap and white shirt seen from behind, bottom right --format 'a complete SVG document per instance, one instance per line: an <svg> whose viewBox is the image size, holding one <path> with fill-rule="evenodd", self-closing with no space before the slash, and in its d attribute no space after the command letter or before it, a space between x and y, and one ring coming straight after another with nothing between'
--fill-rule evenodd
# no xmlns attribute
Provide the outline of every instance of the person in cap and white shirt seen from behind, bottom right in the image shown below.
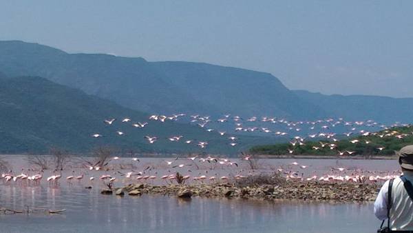
<svg viewBox="0 0 413 233"><path fill-rule="evenodd" d="M413 145L402 148L399 163L406 181L413 183ZM374 214L380 220L388 218L388 186L386 181L374 203ZM394 179L390 201L390 229L413 231L413 201L401 178Z"/></svg>

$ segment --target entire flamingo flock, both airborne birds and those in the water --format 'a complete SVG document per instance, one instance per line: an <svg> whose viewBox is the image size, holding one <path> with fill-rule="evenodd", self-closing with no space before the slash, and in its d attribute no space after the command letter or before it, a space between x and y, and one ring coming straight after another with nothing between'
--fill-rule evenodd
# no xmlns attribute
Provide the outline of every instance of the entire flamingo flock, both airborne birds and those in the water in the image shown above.
<svg viewBox="0 0 413 233"><path fill-rule="evenodd" d="M177 121L178 118L184 117L185 114L173 114L171 117L162 116L162 115L152 115L149 117L151 121ZM190 116L191 123L196 123L199 127L205 128L208 132L217 131L218 135L224 136L226 132L215 130L212 128L208 128L207 125L211 123L210 117L200 117L199 115ZM105 124L107 125L115 125L116 119L109 119L105 120ZM228 121L233 121L235 123L235 131L242 131L242 132L254 132L260 131L264 133L273 133L275 135L286 135L286 134L293 134L292 132L299 133L301 132L302 128L308 126L306 132L310 132L306 136L299 136L293 135L291 136L290 144L293 148L297 145L304 145L306 139L314 139L314 138L326 138L330 140L330 143L320 143L319 147L313 147L313 150L323 150L324 148L329 148L330 150L337 150L337 145L335 144L335 136L337 135L336 132L328 132L332 131L334 128L339 128L341 126L341 130L348 129L349 132L343 132L345 136L350 136L352 134L360 134L363 136L369 135L377 135L380 137L383 136L396 136L398 138L403 138L404 134L397 134L394 132L388 132L388 134L378 134L377 132L369 132L366 128L381 128L381 129L389 129L390 127L394 126L408 126L408 125L401 125L401 124L394 124L394 125L380 125L375 121L355 121L355 122L348 122L343 121L343 119L324 119L319 121L299 121L299 122L290 122L284 119L275 119L269 117L262 117L258 119L257 117L251 117L249 119L242 119L241 117L235 116L230 117L230 115L225 115L221 119L217 119L215 123L224 123ZM128 123L131 122L131 119L125 118L121 120L121 123ZM281 124L285 130L288 132L282 131L274 131L268 128L260 127L260 126L246 126L246 124L251 123L273 123L273 124ZM133 127L136 128L145 128L148 123L144 122L137 122L131 124ZM311 130L317 130L317 132L311 132ZM386 131L385 131L386 132ZM116 131L116 134L119 136L123 136L125 133L121 131ZM93 137L99 138L102 136L101 134L92 134ZM177 135L169 137L169 141L180 141L183 139L184 136ZM145 136L148 143L153 144L158 140L157 136ZM193 140L191 139L184 139L184 143L192 143ZM237 145L235 136L229 136L229 140L231 141L230 145L235 146ZM352 140L351 143L361 143L359 140ZM364 141L363 143L370 143L369 141ZM198 141L198 146L200 148L205 148L208 145L207 141ZM288 153L292 154L294 149L288 149ZM377 148L378 150L383 150L383 147ZM327 149L328 150L328 149ZM354 152L346 151L340 152L337 151L339 155L353 154ZM76 175L75 171L72 174L69 174L65 177L62 177L62 173L58 173L59 171L54 170L50 176L44 177L44 180L47 181L49 185L57 186L59 185L59 181L64 179L67 183L72 184L74 181L81 181L88 180L88 182L93 183L96 182L95 180L103 181L103 183L115 183L118 181L121 182L147 182L147 183L173 183L176 182L176 172L182 173L182 179L186 181L186 183L215 183L215 182L231 182L234 180L246 179L248 176L253 176L255 174L259 174L259 172L263 172L263 169L260 168L250 168L248 167L248 163L252 163L255 158L251 156L243 156L241 159L230 159L230 158L219 158L213 156L193 156L189 158L181 158L181 159L174 159L171 161L167 160L160 160L160 164L158 168L154 165L145 165L145 168L142 168L140 172L136 170L125 170L119 169L116 170L116 166L112 166L111 163L115 163L114 161L118 161L120 158L117 156L112 157L109 159L109 162L100 167L96 164L88 163L87 165L83 165L83 168L78 168L78 175ZM179 163L179 161L184 160L185 162ZM125 158L120 159L119 161L125 161ZM140 159L132 158L131 163L140 163ZM206 164L206 165L204 165ZM202 167L203 166L203 167ZM361 170L361 169L352 169L349 168L330 168L324 171L323 174L319 174L317 176L317 170L313 170L307 172L310 166L299 164L296 161L293 163L288 163L285 165L279 165L277 168L272 168L271 172L275 172L281 176L284 176L286 180L289 181L317 181L317 182L377 182L377 181L386 181L388 179L392 179L395 176L399 176L401 174L400 171L386 171L386 172L378 172L378 171L369 171L369 170ZM268 172L268 169L267 171ZM320 172L320 171L318 171ZM220 175L220 173L224 173ZM310 174L311 173L311 174ZM162 174L162 175L160 175ZM306 174L306 175L304 175ZM43 180L43 170L36 170L36 168L29 168L29 169L22 169L19 174L14 174L11 170L9 172L1 174L1 179L5 184L10 183L19 183L21 185L40 185L41 181Z"/></svg>

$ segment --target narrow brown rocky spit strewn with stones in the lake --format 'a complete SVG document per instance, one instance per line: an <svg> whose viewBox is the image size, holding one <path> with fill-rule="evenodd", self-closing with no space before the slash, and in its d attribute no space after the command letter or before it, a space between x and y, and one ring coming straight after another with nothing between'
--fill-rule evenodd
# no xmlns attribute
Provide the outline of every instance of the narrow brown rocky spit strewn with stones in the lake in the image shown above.
<svg viewBox="0 0 413 233"><path fill-rule="evenodd" d="M140 196L159 194L189 199L191 196L212 198L242 198L262 200L304 200L363 202L376 199L379 186L372 183L319 183L287 182L281 185L257 185L240 187L231 183L191 184L191 185L151 185L147 183L129 184L123 188L102 190L102 194Z"/></svg>

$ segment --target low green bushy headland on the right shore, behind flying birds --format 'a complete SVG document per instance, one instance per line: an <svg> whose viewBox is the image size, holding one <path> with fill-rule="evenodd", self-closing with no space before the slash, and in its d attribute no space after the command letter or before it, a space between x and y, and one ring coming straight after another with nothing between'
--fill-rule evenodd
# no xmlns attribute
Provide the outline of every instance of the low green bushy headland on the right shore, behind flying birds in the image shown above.
<svg viewBox="0 0 413 233"><path fill-rule="evenodd" d="M352 143L352 140L358 140L358 143ZM366 143L368 141L369 143ZM337 148L331 150L328 145L324 148L321 143L334 143ZM369 136L353 136L342 139L337 142L321 140L306 141L305 145L293 146L290 143L280 143L275 145L258 145L250 149L251 154L270 154L282 155L290 154L288 150L293 150L291 154L299 155L338 155L340 152L350 151L354 155L372 156L372 155L394 155L395 151L400 150L405 145L413 144L413 127L398 127L382 130L370 134ZM315 150L319 148L319 150ZM377 148L383 147L383 150ZM348 153L345 153L348 156Z"/></svg>

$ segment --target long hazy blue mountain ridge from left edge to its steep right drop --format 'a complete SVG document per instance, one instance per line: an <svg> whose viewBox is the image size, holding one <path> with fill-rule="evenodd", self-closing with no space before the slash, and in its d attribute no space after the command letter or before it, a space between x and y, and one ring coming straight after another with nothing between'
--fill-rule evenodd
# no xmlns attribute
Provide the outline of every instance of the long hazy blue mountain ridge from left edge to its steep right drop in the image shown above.
<svg viewBox="0 0 413 233"><path fill-rule="evenodd" d="M45 77L143 112L289 119L328 115L271 74L206 63L67 54L36 43L0 41L0 70L10 77Z"/></svg>

